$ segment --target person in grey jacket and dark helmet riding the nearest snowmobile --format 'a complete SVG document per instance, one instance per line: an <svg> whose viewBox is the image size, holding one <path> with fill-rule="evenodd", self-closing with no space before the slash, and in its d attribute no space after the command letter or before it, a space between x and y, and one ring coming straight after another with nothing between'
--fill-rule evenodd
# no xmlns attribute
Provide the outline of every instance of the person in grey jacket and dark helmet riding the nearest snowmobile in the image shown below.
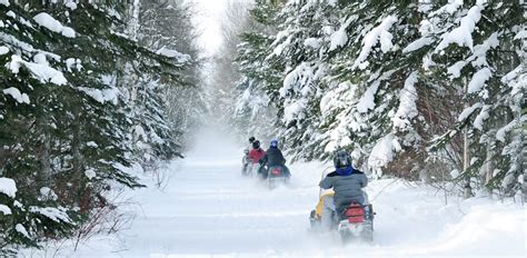
<svg viewBox="0 0 527 258"><path fill-rule="evenodd" d="M368 185L366 175L351 166L351 156L346 150L338 150L334 157L335 171L328 173L319 183L322 189L332 188L335 196L325 196L321 210L322 229L331 227L334 212L340 215L346 207L356 201L367 205L366 192L362 191Z"/></svg>

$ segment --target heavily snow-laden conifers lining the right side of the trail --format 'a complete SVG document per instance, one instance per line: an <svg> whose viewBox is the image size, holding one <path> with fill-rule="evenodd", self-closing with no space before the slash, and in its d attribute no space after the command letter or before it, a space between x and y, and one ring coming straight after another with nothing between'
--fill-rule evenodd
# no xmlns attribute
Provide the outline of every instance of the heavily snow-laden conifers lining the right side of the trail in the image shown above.
<svg viewBox="0 0 527 258"><path fill-rule="evenodd" d="M257 1L276 32L242 38L240 98L278 108L295 159L346 148L375 176L525 196L524 13L501 0Z"/></svg>

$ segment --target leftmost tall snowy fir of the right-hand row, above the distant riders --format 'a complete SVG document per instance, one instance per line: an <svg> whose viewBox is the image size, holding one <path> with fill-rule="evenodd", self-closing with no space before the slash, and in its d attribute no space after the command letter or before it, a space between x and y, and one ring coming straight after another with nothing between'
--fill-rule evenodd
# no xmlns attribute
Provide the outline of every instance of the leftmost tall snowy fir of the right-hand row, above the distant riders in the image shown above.
<svg viewBox="0 0 527 258"><path fill-rule="evenodd" d="M247 136L269 137L274 133L276 109L280 105L276 89L280 83L280 63L266 59L274 40L275 17L278 6L269 1L256 1L250 10L258 26L240 34L236 62L241 78L236 87L241 95L236 99L235 125L245 129Z"/></svg>

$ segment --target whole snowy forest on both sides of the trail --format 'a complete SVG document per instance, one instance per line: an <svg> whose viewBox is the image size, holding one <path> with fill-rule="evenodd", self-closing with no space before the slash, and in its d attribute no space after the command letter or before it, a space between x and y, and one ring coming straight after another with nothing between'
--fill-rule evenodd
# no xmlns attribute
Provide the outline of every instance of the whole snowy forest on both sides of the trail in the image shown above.
<svg viewBox="0 0 527 258"><path fill-rule="evenodd" d="M230 0L212 57L199 12L0 0L0 256L120 231L121 195L166 183L210 125L288 162L347 150L370 180L527 200L521 1Z"/></svg>

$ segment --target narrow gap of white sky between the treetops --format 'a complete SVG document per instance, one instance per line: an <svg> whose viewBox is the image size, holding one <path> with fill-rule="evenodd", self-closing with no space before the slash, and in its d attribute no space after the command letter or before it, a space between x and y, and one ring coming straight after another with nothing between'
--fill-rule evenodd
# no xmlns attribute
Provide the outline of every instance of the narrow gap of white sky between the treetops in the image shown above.
<svg viewBox="0 0 527 258"><path fill-rule="evenodd" d="M221 46L220 21L229 0L189 0L196 3L197 14L193 17L196 28L201 32L199 46L203 56L212 56Z"/></svg>

